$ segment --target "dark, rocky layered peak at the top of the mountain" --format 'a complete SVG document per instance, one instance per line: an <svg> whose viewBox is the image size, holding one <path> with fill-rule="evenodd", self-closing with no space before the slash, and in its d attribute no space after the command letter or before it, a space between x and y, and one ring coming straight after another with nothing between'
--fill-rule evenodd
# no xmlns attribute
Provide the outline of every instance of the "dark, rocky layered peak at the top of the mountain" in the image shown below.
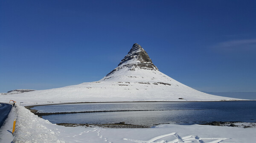
<svg viewBox="0 0 256 143"><path fill-rule="evenodd" d="M148 53L137 43L132 46L128 54L118 64L118 67L108 73L107 76L124 67L128 67L131 71L135 70L135 68L158 70L149 58Z"/></svg>

